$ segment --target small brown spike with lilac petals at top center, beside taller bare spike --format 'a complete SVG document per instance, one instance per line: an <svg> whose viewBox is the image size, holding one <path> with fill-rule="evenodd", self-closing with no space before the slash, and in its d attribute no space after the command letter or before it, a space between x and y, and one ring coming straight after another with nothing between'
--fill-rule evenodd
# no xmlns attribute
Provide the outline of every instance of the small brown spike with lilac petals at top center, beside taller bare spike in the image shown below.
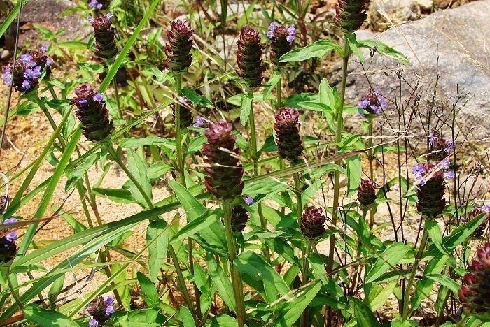
<svg viewBox="0 0 490 327"><path fill-rule="evenodd" d="M272 22L269 24L266 35L271 41L270 60L279 66L279 59L293 48L296 29L294 26L278 25Z"/></svg>

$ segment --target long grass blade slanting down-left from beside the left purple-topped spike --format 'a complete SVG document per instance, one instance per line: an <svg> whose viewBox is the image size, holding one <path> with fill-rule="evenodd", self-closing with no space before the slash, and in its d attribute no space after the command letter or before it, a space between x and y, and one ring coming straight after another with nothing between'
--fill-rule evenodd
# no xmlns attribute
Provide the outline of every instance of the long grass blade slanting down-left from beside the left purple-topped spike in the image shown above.
<svg viewBox="0 0 490 327"><path fill-rule="evenodd" d="M62 124L59 124L59 126L62 126ZM78 143L80 136L82 136L82 130L78 128L76 129L75 133L73 133L70 142L66 145L64 149L62 158L61 160L59 160L59 163L56 166L55 173L53 173L53 175L51 176L48 187L44 191L43 198L41 199L41 203L39 203L39 206L36 212L34 213L34 217L33 217L34 219L42 218L46 210L48 209L48 205L50 204L52 194L55 193L55 189L58 185L58 182L64 173L64 168L66 168L66 165L70 160L71 154L73 154L73 151L75 151L76 144ZM32 224L31 226L29 226L29 228L27 228L24 238L22 239L22 243L20 244L19 247L20 255L25 254L27 252L27 249L29 249L29 245L32 242L32 238L34 238L34 234L36 233L37 228L38 228L38 224Z"/></svg>

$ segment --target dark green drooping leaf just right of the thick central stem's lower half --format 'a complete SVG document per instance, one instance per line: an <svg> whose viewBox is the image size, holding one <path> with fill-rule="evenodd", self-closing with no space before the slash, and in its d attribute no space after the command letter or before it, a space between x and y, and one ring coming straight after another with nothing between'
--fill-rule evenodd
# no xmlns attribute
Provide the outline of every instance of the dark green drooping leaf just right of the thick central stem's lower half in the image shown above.
<svg viewBox="0 0 490 327"><path fill-rule="evenodd" d="M241 274L249 275L254 280L272 282L281 296L290 291L288 284L284 282L281 275L255 252L243 252L237 256L234 262Z"/></svg>

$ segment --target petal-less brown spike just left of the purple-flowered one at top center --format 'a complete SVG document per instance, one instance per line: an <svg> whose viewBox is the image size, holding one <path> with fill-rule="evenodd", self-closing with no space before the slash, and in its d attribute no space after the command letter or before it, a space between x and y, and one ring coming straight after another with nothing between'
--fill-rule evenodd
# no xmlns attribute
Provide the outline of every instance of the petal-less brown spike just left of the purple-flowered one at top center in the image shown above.
<svg viewBox="0 0 490 327"><path fill-rule="evenodd" d="M260 44L258 30L242 27L237 45L237 75L247 82L248 87L260 85L265 66L262 64L264 47Z"/></svg>

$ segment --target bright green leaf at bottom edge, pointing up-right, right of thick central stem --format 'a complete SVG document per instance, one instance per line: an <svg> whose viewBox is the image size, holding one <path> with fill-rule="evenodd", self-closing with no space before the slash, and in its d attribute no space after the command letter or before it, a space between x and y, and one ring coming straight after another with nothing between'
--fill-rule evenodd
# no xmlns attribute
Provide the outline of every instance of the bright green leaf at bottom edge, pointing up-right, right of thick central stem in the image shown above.
<svg viewBox="0 0 490 327"><path fill-rule="evenodd" d="M293 326L320 289L321 283L318 280L298 289L295 296L288 298L286 305L281 308L279 315L274 318L273 326Z"/></svg>

